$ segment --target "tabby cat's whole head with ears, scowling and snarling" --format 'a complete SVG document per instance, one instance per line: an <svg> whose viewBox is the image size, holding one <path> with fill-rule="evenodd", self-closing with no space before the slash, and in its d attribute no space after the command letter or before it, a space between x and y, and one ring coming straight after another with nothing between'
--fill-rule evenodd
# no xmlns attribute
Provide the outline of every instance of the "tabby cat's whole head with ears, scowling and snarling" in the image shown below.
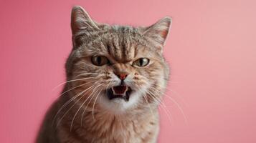
<svg viewBox="0 0 256 143"><path fill-rule="evenodd" d="M113 113L156 107L169 69L162 48L171 25L164 18L149 27L98 24L84 9L72 9L73 49L67 79L86 109Z"/></svg>

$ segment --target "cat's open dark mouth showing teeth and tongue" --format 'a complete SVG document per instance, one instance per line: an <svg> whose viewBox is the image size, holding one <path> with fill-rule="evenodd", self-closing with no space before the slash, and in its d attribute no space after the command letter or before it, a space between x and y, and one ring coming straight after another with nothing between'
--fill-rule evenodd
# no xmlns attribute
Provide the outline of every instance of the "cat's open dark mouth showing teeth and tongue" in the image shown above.
<svg viewBox="0 0 256 143"><path fill-rule="evenodd" d="M131 88L123 85L111 87L110 89L108 89L108 99L110 100L115 98L120 98L120 99L124 99L125 102L128 102L130 98L130 94L131 94Z"/></svg>

